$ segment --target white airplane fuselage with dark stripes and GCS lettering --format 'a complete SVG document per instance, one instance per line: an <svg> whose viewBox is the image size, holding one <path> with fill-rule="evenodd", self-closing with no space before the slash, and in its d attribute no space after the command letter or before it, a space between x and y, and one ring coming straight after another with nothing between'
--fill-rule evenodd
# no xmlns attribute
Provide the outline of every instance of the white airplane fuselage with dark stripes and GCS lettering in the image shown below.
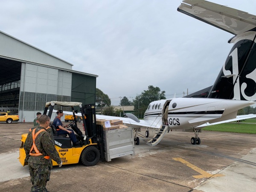
<svg viewBox="0 0 256 192"><path fill-rule="evenodd" d="M209 98L163 99L149 104L144 120L168 125L169 129L190 129L206 122L236 118L239 109L254 103L256 102Z"/></svg>

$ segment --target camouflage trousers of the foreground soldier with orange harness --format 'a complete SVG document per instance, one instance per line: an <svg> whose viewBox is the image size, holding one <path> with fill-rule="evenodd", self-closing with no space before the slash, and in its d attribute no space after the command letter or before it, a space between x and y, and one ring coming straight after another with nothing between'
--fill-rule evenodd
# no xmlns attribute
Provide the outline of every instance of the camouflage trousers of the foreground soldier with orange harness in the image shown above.
<svg viewBox="0 0 256 192"><path fill-rule="evenodd" d="M49 164L29 163L29 174L31 177L31 192L47 192L45 188L49 174Z"/></svg>

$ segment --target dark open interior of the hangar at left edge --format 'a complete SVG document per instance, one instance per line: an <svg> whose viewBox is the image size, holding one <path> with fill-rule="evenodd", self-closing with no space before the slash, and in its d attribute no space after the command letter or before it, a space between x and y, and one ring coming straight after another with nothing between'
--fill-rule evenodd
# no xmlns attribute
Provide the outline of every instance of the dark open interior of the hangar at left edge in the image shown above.
<svg viewBox="0 0 256 192"><path fill-rule="evenodd" d="M21 62L0 58L0 107L19 107Z"/></svg>

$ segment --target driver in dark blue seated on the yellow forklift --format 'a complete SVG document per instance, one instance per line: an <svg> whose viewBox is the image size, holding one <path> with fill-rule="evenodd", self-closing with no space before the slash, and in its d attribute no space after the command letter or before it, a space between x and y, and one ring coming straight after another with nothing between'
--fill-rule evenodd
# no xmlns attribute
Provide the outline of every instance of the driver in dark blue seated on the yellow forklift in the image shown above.
<svg viewBox="0 0 256 192"><path fill-rule="evenodd" d="M57 112L57 116L56 118L53 120L52 124L56 127L56 131L59 135L62 135L62 134L68 134L73 145L76 146L76 145L79 145L80 143L77 141L76 139L76 135L74 134L74 131L71 130L71 129L66 129L62 122L61 122L61 117L63 116L63 111L62 110L58 110Z"/></svg>

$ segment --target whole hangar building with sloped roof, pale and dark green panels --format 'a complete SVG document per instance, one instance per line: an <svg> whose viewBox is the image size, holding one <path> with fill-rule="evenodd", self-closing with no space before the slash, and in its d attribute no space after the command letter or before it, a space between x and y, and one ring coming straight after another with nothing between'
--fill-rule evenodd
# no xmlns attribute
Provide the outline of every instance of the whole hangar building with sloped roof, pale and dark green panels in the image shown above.
<svg viewBox="0 0 256 192"><path fill-rule="evenodd" d="M20 121L32 122L49 101L95 103L98 76L1 31L0 42L0 107L18 108Z"/></svg>

